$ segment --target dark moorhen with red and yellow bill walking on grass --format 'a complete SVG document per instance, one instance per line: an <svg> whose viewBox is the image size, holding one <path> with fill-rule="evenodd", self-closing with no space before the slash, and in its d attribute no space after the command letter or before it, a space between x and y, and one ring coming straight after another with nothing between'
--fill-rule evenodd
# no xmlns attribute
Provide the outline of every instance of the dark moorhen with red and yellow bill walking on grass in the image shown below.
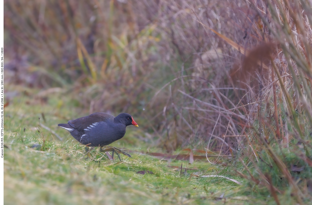
<svg viewBox="0 0 312 205"><path fill-rule="evenodd" d="M120 161L119 153L129 157L131 155L117 147L103 149L103 146L124 137L128 125L139 127L128 113L121 113L114 117L103 112L96 112L85 117L69 120L67 124L58 124L59 127L69 131L78 142L86 146L85 151L89 157L89 147L92 147L91 149L100 147L100 152L112 151L112 157L114 157L114 152L116 152Z"/></svg>

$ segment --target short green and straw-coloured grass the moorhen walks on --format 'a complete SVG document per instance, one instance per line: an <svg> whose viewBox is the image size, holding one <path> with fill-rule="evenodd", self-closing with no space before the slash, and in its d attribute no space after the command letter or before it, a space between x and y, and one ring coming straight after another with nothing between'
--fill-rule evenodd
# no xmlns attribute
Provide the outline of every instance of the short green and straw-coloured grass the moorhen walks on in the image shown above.
<svg viewBox="0 0 312 205"><path fill-rule="evenodd" d="M46 102L36 98L37 90L18 86L7 87L7 93L17 91L5 108L5 204L274 204L270 193L260 194L249 188L228 166L211 165L206 161L164 161L144 153L162 152L149 143L138 140L144 133L127 128L125 137L112 144L131 148L132 158L108 160L98 149L85 159L84 146L57 127L68 119L87 115L71 107L66 96L51 95ZM45 119L42 114L44 113ZM63 141L39 124L51 128ZM138 120L139 125L144 124ZM24 131L25 128L25 131ZM31 148L41 144L40 149ZM178 152L178 151L177 151ZM193 169L182 171L170 166ZM139 174L140 171L149 171ZM222 175L243 183L218 177ZM263 197L266 196L266 197Z"/></svg>

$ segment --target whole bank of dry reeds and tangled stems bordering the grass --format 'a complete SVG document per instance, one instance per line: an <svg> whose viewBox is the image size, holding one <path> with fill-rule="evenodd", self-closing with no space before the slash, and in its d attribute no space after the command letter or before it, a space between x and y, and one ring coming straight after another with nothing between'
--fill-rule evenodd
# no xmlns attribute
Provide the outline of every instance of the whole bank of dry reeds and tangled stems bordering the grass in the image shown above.
<svg viewBox="0 0 312 205"><path fill-rule="evenodd" d="M127 112L149 147L232 156L246 192L307 203L310 3L5 1L6 100L63 121Z"/></svg>

